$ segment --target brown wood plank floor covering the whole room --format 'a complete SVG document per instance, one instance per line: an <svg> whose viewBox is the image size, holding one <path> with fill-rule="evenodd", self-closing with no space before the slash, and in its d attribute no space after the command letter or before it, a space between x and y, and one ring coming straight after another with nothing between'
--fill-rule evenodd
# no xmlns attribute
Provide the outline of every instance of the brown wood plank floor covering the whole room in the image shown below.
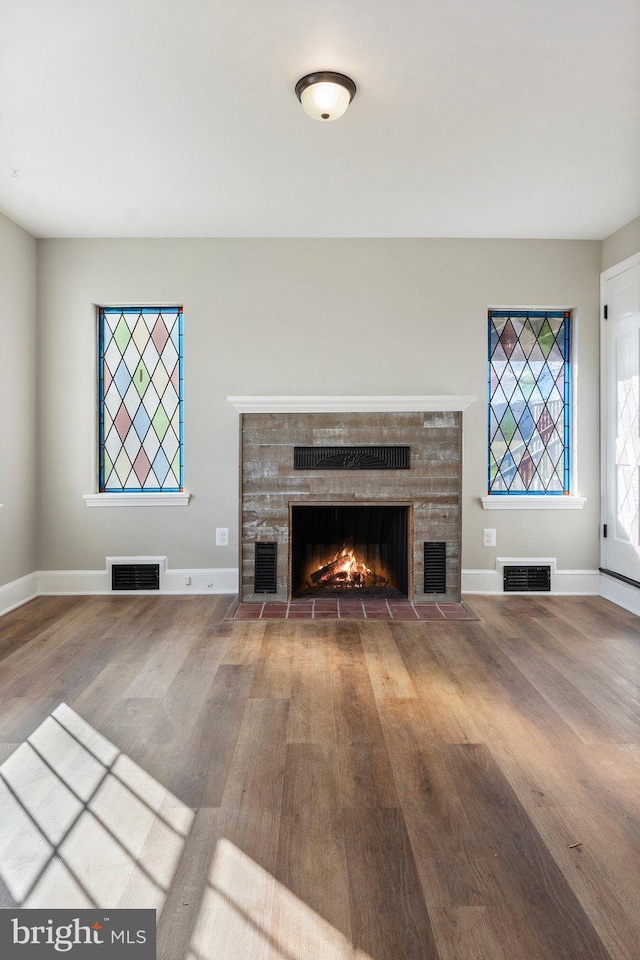
<svg viewBox="0 0 640 960"><path fill-rule="evenodd" d="M0 619L0 905L149 906L159 960L637 960L640 620Z"/></svg>

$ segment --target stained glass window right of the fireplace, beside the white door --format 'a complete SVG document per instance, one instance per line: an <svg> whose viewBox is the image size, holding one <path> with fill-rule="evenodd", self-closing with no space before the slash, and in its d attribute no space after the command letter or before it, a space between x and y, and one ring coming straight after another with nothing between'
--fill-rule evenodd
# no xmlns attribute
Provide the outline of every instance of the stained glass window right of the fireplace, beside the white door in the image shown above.
<svg viewBox="0 0 640 960"><path fill-rule="evenodd" d="M568 494L571 313L489 310L489 493Z"/></svg>

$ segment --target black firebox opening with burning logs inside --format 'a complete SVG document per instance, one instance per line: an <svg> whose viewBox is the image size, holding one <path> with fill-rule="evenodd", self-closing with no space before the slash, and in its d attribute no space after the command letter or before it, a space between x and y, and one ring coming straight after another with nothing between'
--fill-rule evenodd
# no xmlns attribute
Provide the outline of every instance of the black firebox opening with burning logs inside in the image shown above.
<svg viewBox="0 0 640 960"><path fill-rule="evenodd" d="M409 507L292 504L292 597L409 596Z"/></svg>

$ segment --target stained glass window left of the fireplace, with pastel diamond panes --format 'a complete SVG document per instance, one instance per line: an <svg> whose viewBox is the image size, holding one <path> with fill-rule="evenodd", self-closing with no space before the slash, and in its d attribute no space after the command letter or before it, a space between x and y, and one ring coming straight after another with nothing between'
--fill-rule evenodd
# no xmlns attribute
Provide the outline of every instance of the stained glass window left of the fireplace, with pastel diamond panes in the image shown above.
<svg viewBox="0 0 640 960"><path fill-rule="evenodd" d="M101 493L182 490L182 307L106 307L99 321Z"/></svg>

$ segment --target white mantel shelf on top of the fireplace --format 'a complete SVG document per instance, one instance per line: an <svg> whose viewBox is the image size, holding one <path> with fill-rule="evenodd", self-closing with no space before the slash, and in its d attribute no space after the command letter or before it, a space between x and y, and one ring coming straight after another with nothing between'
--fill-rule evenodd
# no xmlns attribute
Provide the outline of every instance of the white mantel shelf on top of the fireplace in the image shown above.
<svg viewBox="0 0 640 960"><path fill-rule="evenodd" d="M227 397L238 413L435 413L466 410L475 396Z"/></svg>

